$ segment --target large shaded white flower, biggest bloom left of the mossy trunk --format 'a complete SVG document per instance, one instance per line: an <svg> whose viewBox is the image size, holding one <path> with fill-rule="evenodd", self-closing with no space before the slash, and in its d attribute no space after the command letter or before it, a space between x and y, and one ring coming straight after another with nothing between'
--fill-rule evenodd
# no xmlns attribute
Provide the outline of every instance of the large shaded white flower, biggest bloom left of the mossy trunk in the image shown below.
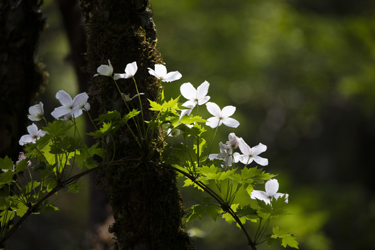
<svg viewBox="0 0 375 250"><path fill-rule="evenodd" d="M56 99L60 101L61 105L58 108L55 108L51 115L56 119L64 117L65 120L68 120L72 117L78 117L82 115L82 110L90 110L90 103L88 103L88 94L83 92L77 94L74 99L64 90L59 90L56 93Z"/></svg>

